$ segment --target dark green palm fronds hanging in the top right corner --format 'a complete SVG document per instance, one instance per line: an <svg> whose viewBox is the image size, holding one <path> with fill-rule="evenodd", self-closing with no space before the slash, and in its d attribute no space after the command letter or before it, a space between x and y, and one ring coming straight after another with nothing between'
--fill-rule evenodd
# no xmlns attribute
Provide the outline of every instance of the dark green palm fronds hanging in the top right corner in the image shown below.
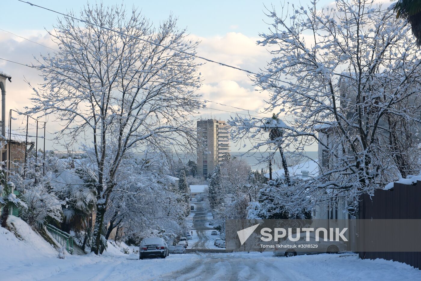
<svg viewBox="0 0 421 281"><path fill-rule="evenodd" d="M421 0L399 0L393 10L397 18L408 21L416 44L421 47Z"/></svg>

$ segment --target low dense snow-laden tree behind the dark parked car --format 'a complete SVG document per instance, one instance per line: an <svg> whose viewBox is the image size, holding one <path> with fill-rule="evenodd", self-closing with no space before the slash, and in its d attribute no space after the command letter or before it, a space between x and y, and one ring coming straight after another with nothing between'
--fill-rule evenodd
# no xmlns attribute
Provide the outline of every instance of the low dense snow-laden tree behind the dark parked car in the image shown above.
<svg viewBox="0 0 421 281"><path fill-rule="evenodd" d="M140 242L155 235L170 241L185 231L186 204L168 176L167 160L160 153L125 159L109 199L106 238L112 230L122 229L117 231L120 239Z"/></svg>

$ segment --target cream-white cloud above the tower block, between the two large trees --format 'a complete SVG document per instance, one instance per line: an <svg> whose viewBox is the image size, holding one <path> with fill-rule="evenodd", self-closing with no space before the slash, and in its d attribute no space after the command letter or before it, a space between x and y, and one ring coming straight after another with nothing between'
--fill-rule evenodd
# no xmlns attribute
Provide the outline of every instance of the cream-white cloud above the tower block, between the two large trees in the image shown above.
<svg viewBox="0 0 421 281"><path fill-rule="evenodd" d="M253 72L264 67L270 57L265 48L256 45L257 38L241 33L229 32L223 37L200 37L199 40L201 43L197 52L200 56ZM246 72L210 62L202 66L200 72L204 82L199 93L203 98L254 111L264 107L267 94L256 91ZM217 104L211 104L211 107L236 111Z"/></svg>

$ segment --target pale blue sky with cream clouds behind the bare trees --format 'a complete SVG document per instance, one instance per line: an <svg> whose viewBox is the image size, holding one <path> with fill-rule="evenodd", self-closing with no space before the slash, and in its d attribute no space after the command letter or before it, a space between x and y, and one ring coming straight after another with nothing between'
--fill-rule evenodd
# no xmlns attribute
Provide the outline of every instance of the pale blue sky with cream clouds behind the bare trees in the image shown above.
<svg viewBox="0 0 421 281"><path fill-rule="evenodd" d="M33 0L34 4L44 6L60 12L69 10L78 11L86 1L53 1ZM104 4L112 5L116 0L104 0ZM91 1L91 3L93 3ZM119 2L120 3L120 2ZM309 0L301 1L306 5ZM329 1L320 1L321 5L328 5ZM251 1L251 0L229 0L229 1L124 1L124 4L131 8L132 5L141 8L142 13L154 23L159 23L168 17L170 13L179 17L179 26L187 27L190 36L201 41L198 48L198 55L211 58L216 61L231 64L243 69L258 71L266 65L270 55L264 47L257 46L259 32L265 32L268 28L264 21L265 6L268 8L274 5L280 8L277 1ZM17 0L9 0L2 3L2 15L0 16L0 29L12 32L16 35L26 37L47 47L55 48L53 42L47 35L47 30L57 20L57 14L32 7ZM49 51L41 45L29 42L16 35L0 30L0 58L16 61L22 64L33 62L34 56L45 54ZM50 50L51 51L51 50ZM28 98L32 90L24 82L28 80L32 84L42 82L37 77L37 71L26 66L13 64L0 60L0 70L12 76L12 83L7 87L7 108L23 110L29 105ZM267 94L256 91L244 72L235 69L207 63L201 70L204 84L200 90L204 99L216 101L225 105L248 109L250 114L257 114L264 106L264 99ZM208 103L212 109L203 110L195 118L217 118L228 119L237 114L245 114L247 111L234 109L216 103ZM223 110L223 111L221 111ZM270 115L270 114L269 114ZM15 120L16 127L21 119ZM51 118L47 125L47 139L52 138L58 123ZM34 132L35 133L35 132ZM40 133L42 135L42 133ZM47 141L47 149L62 150L61 146ZM244 150L240 147L232 147L233 151Z"/></svg>

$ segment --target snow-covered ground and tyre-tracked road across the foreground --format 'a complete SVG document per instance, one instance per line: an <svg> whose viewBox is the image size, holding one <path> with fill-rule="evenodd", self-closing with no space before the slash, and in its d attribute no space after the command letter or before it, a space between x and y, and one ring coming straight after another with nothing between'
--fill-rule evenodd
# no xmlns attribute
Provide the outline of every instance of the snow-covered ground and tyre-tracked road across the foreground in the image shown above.
<svg viewBox="0 0 421 281"><path fill-rule="evenodd" d="M0 228L0 280L421 280L421 270L409 265L360 260L355 254L197 253L139 260L120 251L127 245L109 241L101 256L68 254L59 259L22 220L13 217L11 223L19 239Z"/></svg>

